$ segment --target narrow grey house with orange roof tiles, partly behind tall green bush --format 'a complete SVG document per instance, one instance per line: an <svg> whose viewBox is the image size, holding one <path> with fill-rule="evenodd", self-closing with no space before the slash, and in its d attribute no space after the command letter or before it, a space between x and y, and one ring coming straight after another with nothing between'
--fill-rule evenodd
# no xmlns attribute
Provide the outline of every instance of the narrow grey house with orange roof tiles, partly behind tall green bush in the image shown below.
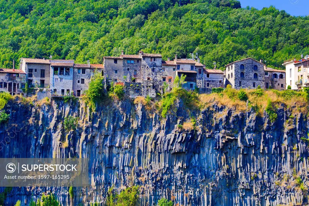
<svg viewBox="0 0 309 206"><path fill-rule="evenodd" d="M104 69L102 64L74 64L73 67L73 90L74 96L80 97L85 90L89 87L91 77L95 72L98 72L102 76L104 75Z"/></svg>

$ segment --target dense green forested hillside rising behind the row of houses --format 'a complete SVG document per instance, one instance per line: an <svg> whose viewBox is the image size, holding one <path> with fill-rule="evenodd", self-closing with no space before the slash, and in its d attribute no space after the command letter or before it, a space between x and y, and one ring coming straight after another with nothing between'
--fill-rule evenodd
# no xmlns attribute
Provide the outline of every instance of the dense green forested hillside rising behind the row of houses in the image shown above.
<svg viewBox="0 0 309 206"><path fill-rule="evenodd" d="M161 53L222 68L243 57L282 67L309 53L309 18L233 0L0 0L0 67L13 58L76 59ZM18 63L19 61L17 61Z"/></svg>

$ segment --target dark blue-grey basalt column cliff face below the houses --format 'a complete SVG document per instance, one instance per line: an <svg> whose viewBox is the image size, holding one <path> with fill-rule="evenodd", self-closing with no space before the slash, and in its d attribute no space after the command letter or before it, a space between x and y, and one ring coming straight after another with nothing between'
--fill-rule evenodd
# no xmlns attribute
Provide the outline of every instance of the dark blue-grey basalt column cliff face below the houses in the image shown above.
<svg viewBox="0 0 309 206"><path fill-rule="evenodd" d="M248 103L247 103L248 104ZM98 106L53 100L32 105L9 101L10 114L0 126L0 157L87 157L89 187L14 187L5 205L22 204L52 192L61 205L106 204L112 185L121 190L139 185L140 204L161 198L175 205L294 205L307 203L309 119L290 108L277 119L212 104L188 113L181 101L161 118L142 103L124 100ZM65 130L66 116L78 117L76 130ZM196 119L193 127L180 127ZM66 144L64 144L66 143ZM0 188L0 192L4 188ZM73 203L72 203L73 202Z"/></svg>

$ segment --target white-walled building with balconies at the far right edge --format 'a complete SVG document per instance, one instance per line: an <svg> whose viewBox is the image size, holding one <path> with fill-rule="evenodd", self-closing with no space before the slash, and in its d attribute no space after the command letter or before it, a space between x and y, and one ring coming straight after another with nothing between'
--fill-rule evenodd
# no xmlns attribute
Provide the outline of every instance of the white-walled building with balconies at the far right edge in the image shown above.
<svg viewBox="0 0 309 206"><path fill-rule="evenodd" d="M282 64L286 67L286 88L300 89L309 86L309 59L303 58L298 61L287 61Z"/></svg>

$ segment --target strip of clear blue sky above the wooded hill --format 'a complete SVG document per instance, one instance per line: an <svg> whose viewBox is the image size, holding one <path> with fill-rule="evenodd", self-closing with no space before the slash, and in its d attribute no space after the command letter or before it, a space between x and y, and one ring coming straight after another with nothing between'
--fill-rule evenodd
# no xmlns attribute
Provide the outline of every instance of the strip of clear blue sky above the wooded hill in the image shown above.
<svg viewBox="0 0 309 206"><path fill-rule="evenodd" d="M285 10L293 16L309 15L308 0L239 0L241 7L247 6L262 9L263 7L275 6L279 10Z"/></svg>

